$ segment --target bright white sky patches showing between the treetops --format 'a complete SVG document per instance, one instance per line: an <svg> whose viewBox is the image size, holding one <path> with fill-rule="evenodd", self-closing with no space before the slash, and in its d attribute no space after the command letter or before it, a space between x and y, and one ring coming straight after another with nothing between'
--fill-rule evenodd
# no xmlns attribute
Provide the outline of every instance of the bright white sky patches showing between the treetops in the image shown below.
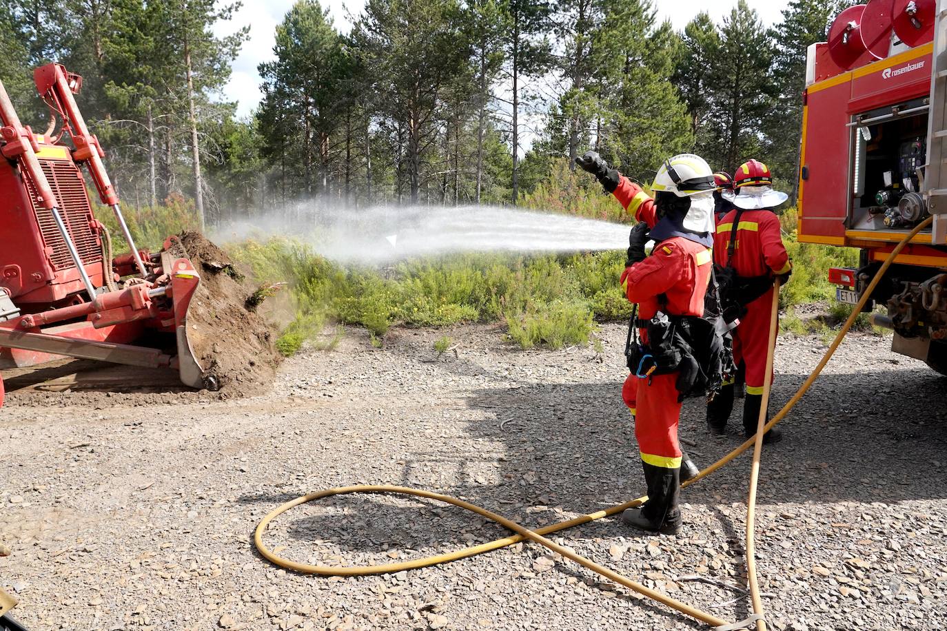
<svg viewBox="0 0 947 631"><path fill-rule="evenodd" d="M223 98L237 101L237 113L249 115L259 104L259 73L257 66L263 61L273 59L274 31L283 16L292 8L295 0L242 0L242 7L230 23L218 25L217 34L226 35L241 26L250 26L250 39L243 44L240 56L233 63L230 82L223 89ZM352 22L365 6L364 0L322 0L328 8L335 26L348 32ZM690 19L701 10L708 10L718 23L737 5L737 0L657 0L660 19L670 18L671 24L683 29ZM750 7L757 9L759 17L767 26L780 18L780 11L786 8L788 0L748 0ZM707 7L707 5L710 5Z"/></svg>

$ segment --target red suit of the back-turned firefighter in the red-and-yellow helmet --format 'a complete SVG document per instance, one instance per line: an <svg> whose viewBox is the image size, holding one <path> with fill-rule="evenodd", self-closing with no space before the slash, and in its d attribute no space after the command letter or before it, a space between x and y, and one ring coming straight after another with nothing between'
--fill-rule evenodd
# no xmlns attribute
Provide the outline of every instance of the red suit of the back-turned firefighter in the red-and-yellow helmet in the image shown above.
<svg viewBox="0 0 947 631"><path fill-rule="evenodd" d="M726 251L737 209L728 212L717 225L714 260L727 264ZM736 246L731 265L740 276L752 277L789 272L789 254L782 244L779 219L771 210L744 210L737 226ZM766 342L773 316L773 289L746 306L746 314L733 331L733 359L746 368L746 394L762 394L766 376ZM775 340L773 341L776 342Z"/></svg>

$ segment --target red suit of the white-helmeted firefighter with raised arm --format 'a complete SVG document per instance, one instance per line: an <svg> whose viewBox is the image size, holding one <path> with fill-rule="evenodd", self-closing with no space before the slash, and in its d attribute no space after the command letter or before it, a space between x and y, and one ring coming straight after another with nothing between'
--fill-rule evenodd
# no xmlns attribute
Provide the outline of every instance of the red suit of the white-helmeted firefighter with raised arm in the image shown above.
<svg viewBox="0 0 947 631"><path fill-rule="evenodd" d="M627 178L621 178L614 195L635 219L650 226L657 221L652 198ZM650 320L658 310L669 315L702 316L711 263L709 249L684 237L672 237L658 243L646 259L627 268L621 280L627 283L628 300L638 305L638 318L642 320ZM639 335L647 342L643 329L639 329ZM645 464L666 468L681 465L677 440L681 404L676 381L677 373L647 378L629 375L622 387L622 398L634 414L634 436Z"/></svg>

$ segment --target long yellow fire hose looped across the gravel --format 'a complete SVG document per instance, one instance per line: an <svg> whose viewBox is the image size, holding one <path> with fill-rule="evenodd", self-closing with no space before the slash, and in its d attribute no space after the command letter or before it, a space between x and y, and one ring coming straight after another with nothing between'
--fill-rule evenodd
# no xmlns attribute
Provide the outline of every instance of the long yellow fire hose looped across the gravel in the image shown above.
<svg viewBox="0 0 947 631"><path fill-rule="evenodd" d="M898 245L895 246L894 250L891 251L891 254L888 254L887 258L884 259L884 263L882 263L881 268L879 268L878 272L875 273L874 277L871 279L871 282L868 283L868 286L865 289L865 291L862 293L862 297L858 301L858 304L854 308L852 308L851 314L849 315L848 320L846 320L845 324L842 325L842 328L839 330L838 334L835 336L835 339L831 342L831 345L826 350L825 354L822 356L822 359L820 359L818 364L815 366L815 369L813 370L813 372L809 375L809 377L806 378L806 380L802 383L802 385L799 386L799 389L792 396L792 398L790 398L790 400L786 403L786 405L784 405L782 409L779 410L779 412L777 412L777 414L772 419L770 419L768 423L766 423L765 425L762 425L762 420L765 419L765 415L766 415L766 402L768 400L769 391L772 387L773 348L772 348L772 345L770 346L770 350L767 353L767 372L766 372L767 377L766 377L766 382L764 386L764 396L763 396L763 401L760 405L759 425L762 427L760 428L758 426L758 431L754 438L750 438L746 440L746 442L744 442L740 447L735 448L733 451L726 454L723 458L718 460L716 463L710 464L709 466L706 467L706 469L701 471L697 476L688 480L688 482L684 482L681 485L682 487L688 487L695 482L703 480L704 478L709 476L711 473L714 473L718 469L722 468L725 464L730 463L732 460L734 460L737 456L741 455L744 451L746 451L750 447L754 447L754 459L753 459L754 462L753 462L753 468L751 471L750 495L747 501L746 554L747 554L747 574L749 577L750 592L751 592L751 597L753 600L753 610L754 610L754 613L756 614L754 617L751 617L751 618L756 619L756 622L758 622L759 624L759 627L758 627L759 629L765 629L765 622L763 622L759 618L759 616L762 615L762 605L759 600L759 585L757 583L757 578L756 578L756 562L754 558L754 555L755 555L754 543L755 542L753 540L753 520L755 517L755 506L756 506L756 479L759 476L759 450L761 447L763 433L765 431L769 431L777 423L782 421L786 417L786 415L789 413L789 411L792 410L793 407L795 407L795 404L798 403L799 399L802 398L803 394L806 394L809 388L812 387L813 382L815 381L816 377L818 377L819 374L822 372L823 368L825 368L825 365L829 362L829 359L831 359L831 356L835 353L835 350L838 348L839 344L848 334L849 330L851 329L851 326L855 324L855 320L858 318L858 315L861 312L862 308L864 308L865 305L867 304L867 301L869 297L871 296L872 292L874 291L874 289L878 286L878 283L881 281L882 277L884 276L884 272L887 272L888 268L890 268L891 264L894 262L895 257L901 253L901 251L910 242L910 240L913 237L915 237L915 235L917 235L921 230L923 230L928 225L930 225L932 221L933 221L933 218L930 218L930 217L921 221L920 224L915 226L915 228L910 233L908 233L908 235L904 237L902 241L898 243ZM777 298L778 298L778 291L774 291L774 301L777 301ZM774 314L776 314L776 312L777 312L777 309L774 309ZM774 316L773 322L771 323L771 326L770 326L771 336L775 334L776 320L777 318ZM762 429L762 430L760 431L759 429ZM290 510L294 506L298 506L299 504L304 504L313 500L319 500L321 498L328 498L333 495L346 495L346 494L351 494L351 493L391 493L391 494L400 494L400 495L413 495L420 498L427 498L429 500L443 501L445 503L453 504L460 508L464 508L466 510L472 511L482 517L487 517L488 519L491 519L492 521L495 521L496 523L513 531L515 535L503 537L500 539L495 539L488 543L482 543L477 546L471 546L470 548L464 548L464 549L456 550L453 552L445 552L443 554L438 554L435 556L428 556L428 557L424 557L420 559L414 559L411 561L402 561L401 563L388 563L384 565L358 566L358 567L348 567L348 568L333 568L331 566L317 566L317 565L311 565L307 563L298 563L296 561L292 561L290 559L286 559L279 556L275 552L270 551L263 544L263 534L266 532L267 526L270 524L270 522L273 521L275 518L279 517L280 515L282 515L283 513L285 513L286 511ZM386 574L386 573L397 572L401 570L418 570L420 568L427 568L429 566L438 565L441 563L447 563L449 561L456 561L457 559L465 558L468 556L474 556L475 554L482 554L483 552L490 552L491 550L497 550L499 548L504 548L506 546L511 546L513 544L519 543L521 541L530 540L542 546L545 546L546 548L554 552L558 552L559 554L562 554L566 558L572 559L573 561L579 563L584 568L598 572L602 576L605 576L606 578L618 583L619 585L623 585L625 587L633 589L634 591L640 594L648 596L652 600L655 600L664 605L668 605L672 609L675 609L683 614L686 614L690 616L691 618L694 618L701 622L706 622L707 624L713 625L715 627L719 627L722 630L745 628L746 624L751 621L748 620L748 621L743 621L743 622L736 622L733 624L727 623L724 620L717 618L716 616L712 614L707 613L706 611L702 611L690 605L686 605L684 603L681 603L680 601L670 598L670 596L657 592L649 587L645 587L639 583L635 583L633 580L625 576L622 576L621 574L618 574L612 570L609 570L603 566L600 566L598 563L595 563L594 561L587 559L584 556L581 556L581 554L572 552L568 548L565 548L553 541L550 541L544 536L550 533L557 533L559 531L563 531L567 528L579 526L581 524L588 523L590 521L594 521L602 517L609 517L612 515L616 515L624 511L626 508L632 508L634 506L641 505L647 499L648 497L644 496L636 500L629 500L624 503L618 504L616 506L612 506L611 508L608 508L604 511L598 511L596 513L589 513L587 515L582 515L581 517L574 517L566 521L550 524L543 528L539 528L535 531L531 531L514 521L510 521L506 517L496 515L495 513L492 513L491 511L483 507L476 506L464 500L458 500L456 498L452 498L451 496L441 495L439 493L433 493L431 491L408 488L405 486L390 486L387 484L377 484L377 485L359 484L359 485L354 485L354 486L340 486L336 488L327 489L324 491L317 491L317 492L302 496L300 498L296 498L295 500L290 500L283 504L280 504L279 506L277 506L277 508L270 511L270 513L268 513L265 517L263 517L260 520L259 524L257 525L257 530L254 532L253 540L254 540L254 544L257 546L257 550L259 550L259 553L262 554L266 559L268 559L275 565L281 568L285 568L287 570L295 570L298 572L303 572L303 573L308 573L308 574L320 574L323 576L366 576L369 574Z"/></svg>

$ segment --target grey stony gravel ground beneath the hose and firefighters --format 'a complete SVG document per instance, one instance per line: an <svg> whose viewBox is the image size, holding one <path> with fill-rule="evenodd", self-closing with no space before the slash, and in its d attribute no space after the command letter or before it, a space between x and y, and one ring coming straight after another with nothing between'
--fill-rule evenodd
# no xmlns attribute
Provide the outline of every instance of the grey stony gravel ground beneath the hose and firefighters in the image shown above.
<svg viewBox="0 0 947 631"><path fill-rule="evenodd" d="M433 342L457 344L436 358ZM706 628L534 545L396 575L322 578L263 561L259 518L353 483L429 488L538 527L637 497L643 480L619 386L624 330L591 348L519 351L496 327L348 331L288 360L269 394L13 393L0 412L0 585L35 629ZM947 625L945 380L846 342L763 455L758 548L771 628ZM777 347L775 402L824 350ZM45 398L44 398L45 397ZM739 425L739 420L734 419ZM698 464L711 438L688 403ZM920 475L916 473L920 471ZM688 489L686 530L639 536L602 519L555 538L724 619L748 614L743 523L749 458ZM348 496L277 520L271 547L350 565L426 556L502 535L453 507ZM698 580L700 579L700 580Z"/></svg>

